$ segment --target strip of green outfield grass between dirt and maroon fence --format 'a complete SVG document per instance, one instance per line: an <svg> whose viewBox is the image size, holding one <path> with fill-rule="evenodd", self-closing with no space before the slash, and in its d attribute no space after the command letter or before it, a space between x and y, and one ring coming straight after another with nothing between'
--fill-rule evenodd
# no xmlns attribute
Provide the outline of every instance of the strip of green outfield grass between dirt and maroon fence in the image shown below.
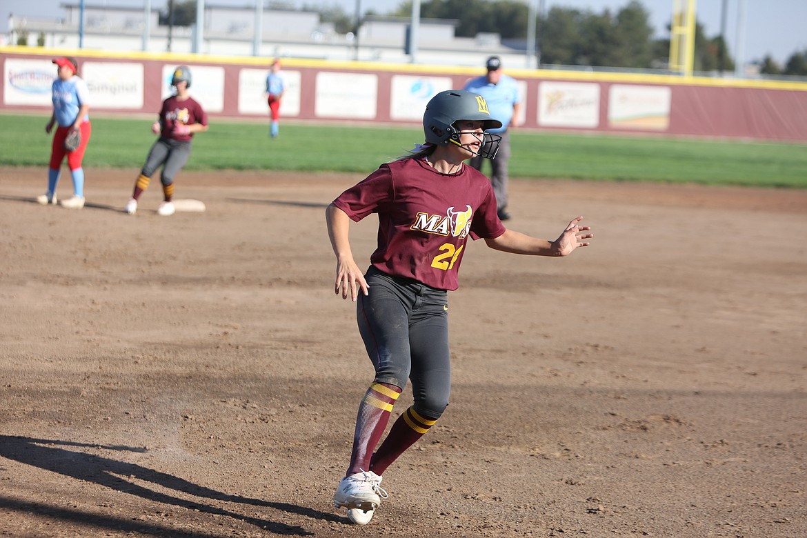
<svg viewBox="0 0 807 538"><path fill-rule="evenodd" d="M0 115L0 165L47 166L48 115ZM86 167L140 169L151 119L93 117ZM213 119L196 136L189 170L270 169L370 173L423 141L415 127L263 123ZM511 177L667 181L807 188L807 145L514 131Z"/></svg>

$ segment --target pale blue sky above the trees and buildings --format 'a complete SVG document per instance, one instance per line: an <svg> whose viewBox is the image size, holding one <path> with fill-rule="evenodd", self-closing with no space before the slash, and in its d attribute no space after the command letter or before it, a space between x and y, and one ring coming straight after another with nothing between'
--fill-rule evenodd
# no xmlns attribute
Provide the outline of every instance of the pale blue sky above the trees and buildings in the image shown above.
<svg viewBox="0 0 807 538"><path fill-rule="evenodd" d="M256 0L206 0L218 6L254 6ZM539 0L524 0L535 2ZM650 24L657 37L667 37L673 0L639 0L650 12ZM63 3L78 4L80 0L0 0L0 31L8 31L10 14L35 19L59 19ZM154 9L163 9L168 0L151 0ZM613 13L629 0L543 0L545 10L553 6L592 10L601 13L605 9ZM725 2L725 41L735 60L746 62L762 60L771 56L784 65L794 52L807 50L807 0L697 0L697 19L704 25L708 37L719 35L722 27L722 9ZM268 1L266 2L269 3ZM378 14L397 8L401 0L299 0L288 2L294 6L340 6L352 15L356 6L365 11L372 8ZM680 0L686 5L686 0ZM144 6L143 0L86 0L86 4L108 6ZM745 16L740 17L741 6ZM738 36L742 39L738 39Z"/></svg>

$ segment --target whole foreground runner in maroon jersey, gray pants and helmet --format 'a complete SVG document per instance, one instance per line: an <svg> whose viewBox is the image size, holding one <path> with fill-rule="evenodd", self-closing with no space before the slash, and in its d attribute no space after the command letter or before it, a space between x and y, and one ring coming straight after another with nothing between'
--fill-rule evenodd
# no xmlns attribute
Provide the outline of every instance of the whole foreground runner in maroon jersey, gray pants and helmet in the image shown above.
<svg viewBox="0 0 807 538"><path fill-rule="evenodd" d="M345 190L326 210L337 256L335 291L357 302L359 333L375 370L358 408L345 478L333 503L353 523L368 523L387 498L384 471L440 418L449 402L450 364L447 291L470 236L495 250L536 256L567 256L588 246L591 228L572 219L557 240L542 240L504 227L496 215L490 181L464 161L491 158L501 127L478 94L437 94L423 117L425 144L381 165ZM378 248L362 274L349 244L349 223L378 214ZM412 382L414 404L403 411L387 438L376 445L395 400Z"/></svg>

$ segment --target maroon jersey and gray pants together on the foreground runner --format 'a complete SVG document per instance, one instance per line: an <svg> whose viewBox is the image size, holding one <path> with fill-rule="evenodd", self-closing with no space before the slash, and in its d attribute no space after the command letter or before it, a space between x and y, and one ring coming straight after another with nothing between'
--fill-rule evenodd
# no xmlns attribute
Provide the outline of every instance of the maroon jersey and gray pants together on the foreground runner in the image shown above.
<svg viewBox="0 0 807 538"><path fill-rule="evenodd" d="M430 419L448 405L450 364L447 290L458 288L468 240L505 231L490 181L463 164L439 173L424 159L382 165L334 205L354 221L378 214L378 248L358 298L358 326L375 381L403 389Z"/></svg>

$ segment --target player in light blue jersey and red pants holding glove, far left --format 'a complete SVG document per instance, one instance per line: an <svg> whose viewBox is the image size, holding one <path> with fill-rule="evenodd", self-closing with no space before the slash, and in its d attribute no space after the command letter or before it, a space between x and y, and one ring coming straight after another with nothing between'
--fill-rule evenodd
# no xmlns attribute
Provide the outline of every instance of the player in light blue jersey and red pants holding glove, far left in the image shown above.
<svg viewBox="0 0 807 538"><path fill-rule="evenodd" d="M67 156L67 165L73 176L73 198L61 201L61 205L70 209L84 207L84 169L82 161L87 142L90 141L90 90L87 83L78 76L78 64L75 58L62 56L53 63L59 66L58 77L53 81L52 100L53 113L45 132L50 134L58 123L51 144L51 160L48 165L48 192L36 197L42 205L56 203L56 186L61 176L61 163ZM65 140L73 132L81 135L81 143L77 148L65 148Z"/></svg>

